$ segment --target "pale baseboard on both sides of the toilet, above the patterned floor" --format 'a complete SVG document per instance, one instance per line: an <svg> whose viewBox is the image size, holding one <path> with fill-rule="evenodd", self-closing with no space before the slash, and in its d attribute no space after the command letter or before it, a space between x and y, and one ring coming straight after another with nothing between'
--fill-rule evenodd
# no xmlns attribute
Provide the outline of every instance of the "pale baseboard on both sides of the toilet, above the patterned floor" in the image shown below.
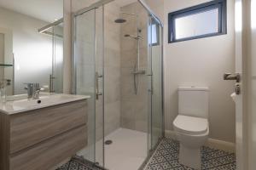
<svg viewBox="0 0 256 170"><path fill-rule="evenodd" d="M171 130L166 130L166 138L177 139L176 134L174 133L174 131L171 131ZM236 153L236 144L231 142L226 142L223 140L209 138L205 146L208 146L210 148L217 149L217 150L224 150L227 152Z"/></svg>

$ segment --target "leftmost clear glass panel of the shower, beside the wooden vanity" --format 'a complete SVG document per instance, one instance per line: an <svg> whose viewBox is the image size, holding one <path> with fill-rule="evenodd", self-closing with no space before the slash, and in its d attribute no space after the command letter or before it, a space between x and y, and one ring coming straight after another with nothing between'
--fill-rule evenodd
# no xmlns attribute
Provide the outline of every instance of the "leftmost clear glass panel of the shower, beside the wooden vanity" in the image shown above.
<svg viewBox="0 0 256 170"><path fill-rule="evenodd" d="M96 120L96 14L95 10L75 17L75 92L90 95L88 99L88 145L79 151L79 156L95 162Z"/></svg>

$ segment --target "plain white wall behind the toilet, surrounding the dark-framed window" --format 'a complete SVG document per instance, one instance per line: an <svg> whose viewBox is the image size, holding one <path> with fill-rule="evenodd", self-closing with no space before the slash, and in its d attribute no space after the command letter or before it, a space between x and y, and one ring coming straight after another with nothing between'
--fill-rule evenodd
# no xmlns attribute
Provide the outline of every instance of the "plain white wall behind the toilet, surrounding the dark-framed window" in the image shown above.
<svg viewBox="0 0 256 170"><path fill-rule="evenodd" d="M165 25L166 130L172 130L172 122L177 116L177 87L207 86L210 88L210 137L235 142L235 104L230 99L230 94L234 91L234 82L223 80L224 72L235 72L234 1L227 1L227 35L170 44L167 42L168 14L207 1L161 0L162 3L146 1Z"/></svg>

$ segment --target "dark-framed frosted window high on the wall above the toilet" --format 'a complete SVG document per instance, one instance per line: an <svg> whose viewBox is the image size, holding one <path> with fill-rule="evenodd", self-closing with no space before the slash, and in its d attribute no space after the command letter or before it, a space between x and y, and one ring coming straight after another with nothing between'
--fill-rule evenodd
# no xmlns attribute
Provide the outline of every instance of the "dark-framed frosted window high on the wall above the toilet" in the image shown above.
<svg viewBox="0 0 256 170"><path fill-rule="evenodd" d="M168 20L169 43L226 34L226 0L214 0L170 13Z"/></svg>

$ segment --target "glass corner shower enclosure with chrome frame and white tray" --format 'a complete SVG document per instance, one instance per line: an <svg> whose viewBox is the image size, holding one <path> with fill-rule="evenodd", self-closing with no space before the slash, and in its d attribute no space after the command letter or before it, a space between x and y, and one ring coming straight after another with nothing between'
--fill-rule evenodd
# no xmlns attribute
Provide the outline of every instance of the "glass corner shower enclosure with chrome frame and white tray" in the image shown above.
<svg viewBox="0 0 256 170"><path fill-rule="evenodd" d="M164 137L162 31L140 0L102 0L73 14L73 94L90 95L79 156L138 169Z"/></svg>

